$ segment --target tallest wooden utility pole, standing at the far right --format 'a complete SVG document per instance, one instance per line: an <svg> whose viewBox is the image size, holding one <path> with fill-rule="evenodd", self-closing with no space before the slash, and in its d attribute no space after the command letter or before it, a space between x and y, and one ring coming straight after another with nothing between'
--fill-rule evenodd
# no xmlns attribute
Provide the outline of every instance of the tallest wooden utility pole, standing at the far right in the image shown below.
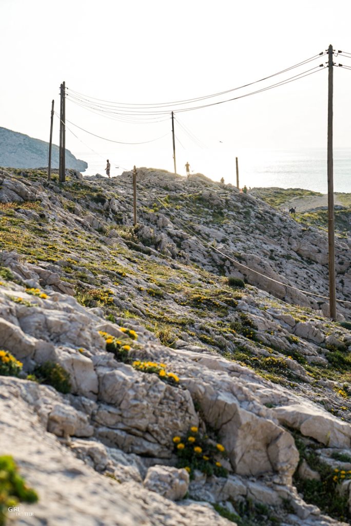
<svg viewBox="0 0 351 526"><path fill-rule="evenodd" d="M328 256L329 256L329 314L336 320L335 240L334 240L334 183L333 183L333 46L328 47Z"/></svg>

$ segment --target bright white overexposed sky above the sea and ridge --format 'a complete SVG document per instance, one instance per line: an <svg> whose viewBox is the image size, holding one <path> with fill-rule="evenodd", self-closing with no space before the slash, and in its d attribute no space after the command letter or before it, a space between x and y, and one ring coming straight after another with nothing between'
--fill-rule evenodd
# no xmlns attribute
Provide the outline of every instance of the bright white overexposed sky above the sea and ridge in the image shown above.
<svg viewBox="0 0 351 526"><path fill-rule="evenodd" d="M51 100L59 112L65 80L66 147L75 155L94 158L94 169L100 159L100 173L107 156L116 174L135 164L172 170L171 106L157 122L138 117L127 123L76 105L69 93L159 104L222 92L280 72L329 44L351 53L350 17L348 0L333 7L325 0L0 0L0 126L48 140ZM351 55L335 61L351 67ZM273 149L326 147L327 74L321 68L260 94L176 113L177 171L189 161L192 170L219 178L216 167L234 172L243 151L257 162L260 150L266 156ZM351 70L334 68L335 147L351 145L350 93ZM120 143L164 137L115 144L75 125ZM55 116L55 144L58 135Z"/></svg>

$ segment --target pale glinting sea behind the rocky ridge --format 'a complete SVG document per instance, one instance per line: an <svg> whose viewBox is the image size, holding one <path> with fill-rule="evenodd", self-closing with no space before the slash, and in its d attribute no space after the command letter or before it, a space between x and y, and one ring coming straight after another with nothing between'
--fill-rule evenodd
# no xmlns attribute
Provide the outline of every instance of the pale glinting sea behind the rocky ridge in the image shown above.
<svg viewBox="0 0 351 526"><path fill-rule="evenodd" d="M143 149L128 151L74 152L87 161L83 175L105 175L106 160L111 163L111 176L137 167L159 168L174 171L172 150ZM225 148L176 151L177 173L185 176L185 163L190 173L201 173L219 181L236 185L235 158L238 157L239 186L303 188L327 193L326 148L229 150ZM334 148L334 191L351 193L351 148Z"/></svg>

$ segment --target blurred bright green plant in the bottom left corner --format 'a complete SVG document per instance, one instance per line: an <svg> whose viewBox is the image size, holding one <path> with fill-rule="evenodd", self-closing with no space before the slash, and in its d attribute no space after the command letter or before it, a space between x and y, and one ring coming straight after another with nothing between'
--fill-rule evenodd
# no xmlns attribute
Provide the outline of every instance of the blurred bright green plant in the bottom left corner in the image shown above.
<svg viewBox="0 0 351 526"><path fill-rule="evenodd" d="M11 456L0 457L0 526L5 526L7 511L20 502L37 502L38 495L28 488L19 475L16 463Z"/></svg>

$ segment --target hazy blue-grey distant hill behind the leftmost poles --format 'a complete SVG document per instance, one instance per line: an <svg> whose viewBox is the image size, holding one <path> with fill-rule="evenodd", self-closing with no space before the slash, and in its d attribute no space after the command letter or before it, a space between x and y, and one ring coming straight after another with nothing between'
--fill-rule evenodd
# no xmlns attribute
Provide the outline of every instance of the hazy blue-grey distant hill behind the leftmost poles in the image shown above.
<svg viewBox="0 0 351 526"><path fill-rule="evenodd" d="M38 168L48 165L49 143L28 135L0 127L0 166L12 168ZM51 167L58 168L59 148L53 145ZM66 149L66 168L84 171L85 161L77 159Z"/></svg>

